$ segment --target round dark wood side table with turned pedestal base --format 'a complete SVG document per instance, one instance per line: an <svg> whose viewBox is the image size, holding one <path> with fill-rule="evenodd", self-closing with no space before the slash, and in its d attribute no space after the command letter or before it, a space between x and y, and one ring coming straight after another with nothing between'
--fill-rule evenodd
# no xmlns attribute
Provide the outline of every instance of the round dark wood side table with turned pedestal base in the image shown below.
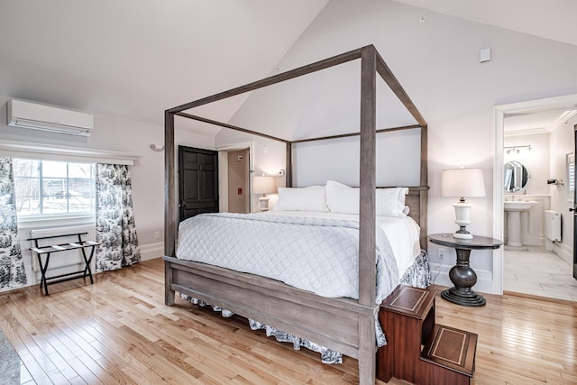
<svg viewBox="0 0 577 385"><path fill-rule="evenodd" d="M453 247L457 252L457 264L449 270L449 279L453 288L441 292L441 297L453 304L465 307L485 306L485 298L471 288L477 283L477 274L469 264L472 250L499 249L502 244L498 239L473 235L472 239L453 238L453 234L431 234L431 243Z"/></svg>

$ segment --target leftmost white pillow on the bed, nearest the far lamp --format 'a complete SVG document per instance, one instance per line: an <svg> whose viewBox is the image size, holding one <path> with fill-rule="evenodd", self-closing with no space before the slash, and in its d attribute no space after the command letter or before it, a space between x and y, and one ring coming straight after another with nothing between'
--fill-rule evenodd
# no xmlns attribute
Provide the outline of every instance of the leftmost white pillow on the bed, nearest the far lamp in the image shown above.
<svg viewBox="0 0 577 385"><path fill-rule="evenodd" d="M273 211L328 211L325 186L279 188L279 201Z"/></svg>

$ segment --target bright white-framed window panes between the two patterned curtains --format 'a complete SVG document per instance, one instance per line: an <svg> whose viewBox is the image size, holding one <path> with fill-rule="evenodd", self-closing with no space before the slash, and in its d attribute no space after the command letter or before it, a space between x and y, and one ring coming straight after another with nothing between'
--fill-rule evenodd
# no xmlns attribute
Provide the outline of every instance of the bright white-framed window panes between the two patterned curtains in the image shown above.
<svg viewBox="0 0 577 385"><path fill-rule="evenodd" d="M14 159L19 217L93 215L94 163Z"/></svg>

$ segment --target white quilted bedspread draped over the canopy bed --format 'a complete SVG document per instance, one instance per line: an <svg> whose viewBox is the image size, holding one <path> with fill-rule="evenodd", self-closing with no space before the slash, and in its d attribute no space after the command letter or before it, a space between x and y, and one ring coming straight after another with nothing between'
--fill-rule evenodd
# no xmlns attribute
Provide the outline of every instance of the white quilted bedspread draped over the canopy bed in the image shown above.
<svg viewBox="0 0 577 385"><path fill-rule="evenodd" d="M376 239L380 303L397 287L399 270L394 247L380 226ZM258 274L324 297L356 299L358 247L358 222L353 220L218 213L180 223L177 257Z"/></svg>

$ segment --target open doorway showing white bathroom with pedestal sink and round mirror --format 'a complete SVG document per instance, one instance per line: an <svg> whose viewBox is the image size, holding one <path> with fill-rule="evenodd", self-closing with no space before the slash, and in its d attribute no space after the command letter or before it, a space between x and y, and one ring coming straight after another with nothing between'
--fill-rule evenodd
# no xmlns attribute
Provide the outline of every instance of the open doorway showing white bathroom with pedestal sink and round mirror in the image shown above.
<svg viewBox="0 0 577 385"><path fill-rule="evenodd" d="M572 105L503 116L500 186L506 292L577 300L570 212L575 124L577 110Z"/></svg>

